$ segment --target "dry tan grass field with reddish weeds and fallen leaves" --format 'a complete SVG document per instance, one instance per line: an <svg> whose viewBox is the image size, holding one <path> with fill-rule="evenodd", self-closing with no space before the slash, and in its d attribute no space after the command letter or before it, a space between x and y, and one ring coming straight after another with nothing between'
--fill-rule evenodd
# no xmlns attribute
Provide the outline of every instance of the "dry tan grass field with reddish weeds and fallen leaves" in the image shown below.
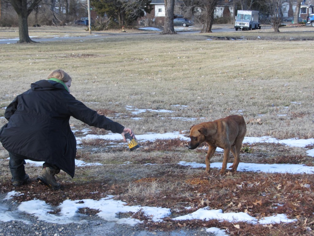
<svg viewBox="0 0 314 236"><path fill-rule="evenodd" d="M100 114L131 127L135 134L179 131L188 135L195 123L240 114L247 122L248 137L314 138L313 29L307 26L302 31L283 28L280 34L271 31L236 34L255 40L212 40L212 36L226 38L235 33L137 34L85 41L0 44L0 126L6 122L5 107L16 95L60 68L73 78L74 97ZM133 114L129 106L173 112ZM74 119L70 123L77 130L88 128ZM107 132L90 128L89 133ZM75 135L85 136L82 132ZM240 222L235 227L230 222L218 221L183 224L166 220L156 225L146 220L139 227L170 230L215 226L227 229L231 235L313 235L314 194L312 187L300 187L305 183L312 185L313 175L237 172L221 177L217 169L206 175L203 169L177 165L182 160L204 163L206 150L188 150L187 142L140 143L142 148L134 152L108 143L87 140L82 144L77 159L104 165L77 168L73 179L61 171L58 176L63 185L62 194L58 191L42 194L48 189L35 183L40 168L26 166L33 182L17 189L25 193L18 200L33 198L35 194L36 198L57 205L67 198L101 197L101 194L90 196L97 189L129 204L136 200L136 204L183 212L186 206L192 206L193 211L203 207L201 196L206 194L212 209L247 211L255 217L284 213L297 221L266 227ZM98 151L93 151L95 147ZM280 144L256 143L249 147L244 144L240 159L251 163L313 166L313 158L306 155L306 150ZM6 150L0 146L3 193L13 189L7 157ZM127 161L131 164L121 165ZM216 153L213 161L222 161L222 154ZM157 165L144 166L146 163ZM253 183L254 187L245 187L247 183ZM236 188L239 184L244 187ZM282 206L274 209L277 203Z"/></svg>

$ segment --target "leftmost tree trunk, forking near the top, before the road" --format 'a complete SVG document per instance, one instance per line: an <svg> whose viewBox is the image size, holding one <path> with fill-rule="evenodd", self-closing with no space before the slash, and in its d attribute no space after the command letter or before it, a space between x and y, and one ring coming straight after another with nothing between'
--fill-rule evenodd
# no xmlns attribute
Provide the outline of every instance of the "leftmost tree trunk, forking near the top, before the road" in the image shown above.
<svg viewBox="0 0 314 236"><path fill-rule="evenodd" d="M19 16L19 43L35 42L30 39L27 18L40 2L41 0L10 0Z"/></svg>

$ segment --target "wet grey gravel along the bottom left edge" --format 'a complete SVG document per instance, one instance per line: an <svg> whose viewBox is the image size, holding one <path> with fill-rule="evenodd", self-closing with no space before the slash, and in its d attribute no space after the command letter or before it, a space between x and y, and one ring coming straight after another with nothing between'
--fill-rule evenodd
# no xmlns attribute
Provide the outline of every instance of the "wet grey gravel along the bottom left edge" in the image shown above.
<svg viewBox="0 0 314 236"><path fill-rule="evenodd" d="M18 211L18 203L12 200L3 200L0 194L0 236L213 236L204 228L182 228L170 232L145 231L138 226L129 226L107 222L98 216L80 214L79 219L69 224L56 224L41 221L37 217ZM2 222L1 218L12 218L9 222Z"/></svg>

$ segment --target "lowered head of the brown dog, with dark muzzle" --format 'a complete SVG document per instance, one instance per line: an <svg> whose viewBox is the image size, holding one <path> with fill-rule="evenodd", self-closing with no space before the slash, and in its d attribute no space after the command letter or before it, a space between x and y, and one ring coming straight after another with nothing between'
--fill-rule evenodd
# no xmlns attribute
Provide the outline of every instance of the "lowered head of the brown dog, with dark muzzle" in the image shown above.
<svg viewBox="0 0 314 236"><path fill-rule="evenodd" d="M212 135L212 129L208 128L205 123L193 125L190 129L190 144L188 149L196 149L198 145L206 140L208 135Z"/></svg>

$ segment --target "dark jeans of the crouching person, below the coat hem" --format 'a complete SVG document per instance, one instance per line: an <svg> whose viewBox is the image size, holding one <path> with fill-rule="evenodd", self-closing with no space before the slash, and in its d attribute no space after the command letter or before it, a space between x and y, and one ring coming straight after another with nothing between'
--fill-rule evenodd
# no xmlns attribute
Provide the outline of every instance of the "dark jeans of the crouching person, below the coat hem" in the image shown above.
<svg viewBox="0 0 314 236"><path fill-rule="evenodd" d="M40 161L40 160L36 160L33 158L29 158L27 156L15 154L12 152L9 152L9 157L10 157L9 167L10 167L10 171L11 171L11 175L12 175L12 182L24 180L25 174L26 174L25 173L25 167L24 167L24 165L26 164L25 160ZM50 167L50 168L53 168L53 169L60 171L60 169L57 166L52 165L52 164L47 163L47 162L44 162L42 167L43 168Z"/></svg>

